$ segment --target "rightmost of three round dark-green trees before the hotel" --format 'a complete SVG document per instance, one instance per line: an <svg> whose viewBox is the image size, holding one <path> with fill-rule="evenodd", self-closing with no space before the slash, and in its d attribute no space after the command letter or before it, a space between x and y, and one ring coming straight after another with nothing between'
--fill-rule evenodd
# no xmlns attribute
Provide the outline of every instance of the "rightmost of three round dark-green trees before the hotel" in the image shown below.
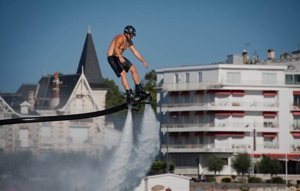
<svg viewBox="0 0 300 191"><path fill-rule="evenodd" d="M277 174L280 171L280 163L276 159L271 159L269 156L263 156L262 160L258 164L259 170L262 174L271 174L271 183L273 174Z"/></svg>

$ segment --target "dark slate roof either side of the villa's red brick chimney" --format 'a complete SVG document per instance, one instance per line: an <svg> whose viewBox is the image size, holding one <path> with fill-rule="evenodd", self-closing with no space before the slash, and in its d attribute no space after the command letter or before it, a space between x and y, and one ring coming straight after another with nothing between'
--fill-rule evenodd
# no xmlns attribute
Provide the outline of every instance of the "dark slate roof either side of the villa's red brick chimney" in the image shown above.
<svg viewBox="0 0 300 191"><path fill-rule="evenodd" d="M59 105L56 108L62 108L71 96L71 93L76 86L80 74L59 75ZM43 76L39 81L37 99L52 99L53 98L53 83L54 76Z"/></svg>

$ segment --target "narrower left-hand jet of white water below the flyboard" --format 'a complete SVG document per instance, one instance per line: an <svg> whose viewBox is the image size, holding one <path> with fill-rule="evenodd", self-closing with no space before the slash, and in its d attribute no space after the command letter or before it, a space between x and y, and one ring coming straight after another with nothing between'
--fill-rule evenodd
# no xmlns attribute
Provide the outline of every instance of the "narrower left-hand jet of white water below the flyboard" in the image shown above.
<svg viewBox="0 0 300 191"><path fill-rule="evenodd" d="M128 163L133 147L132 126L132 114L129 111L122 132L122 137L119 142L119 147L113 154L112 162L108 165L107 173L105 173L104 184L98 188L98 190L122 190L121 184L127 181Z"/></svg>

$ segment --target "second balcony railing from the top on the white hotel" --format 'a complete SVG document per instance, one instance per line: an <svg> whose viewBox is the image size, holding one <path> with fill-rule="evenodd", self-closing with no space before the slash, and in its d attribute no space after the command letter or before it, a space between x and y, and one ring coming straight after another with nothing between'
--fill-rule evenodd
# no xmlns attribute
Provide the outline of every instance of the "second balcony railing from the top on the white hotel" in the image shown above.
<svg viewBox="0 0 300 191"><path fill-rule="evenodd" d="M278 102L190 102L190 103L165 103L161 107L190 107L190 106L235 106L235 107L278 107Z"/></svg>

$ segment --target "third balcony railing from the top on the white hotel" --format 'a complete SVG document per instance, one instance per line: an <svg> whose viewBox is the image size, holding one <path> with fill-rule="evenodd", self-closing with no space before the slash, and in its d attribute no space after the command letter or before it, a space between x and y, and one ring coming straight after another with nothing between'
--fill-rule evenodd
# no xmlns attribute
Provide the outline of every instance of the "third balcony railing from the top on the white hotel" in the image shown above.
<svg viewBox="0 0 300 191"><path fill-rule="evenodd" d="M234 127L234 128L278 128L277 123L163 123L161 127L168 127L168 128L185 128L185 127Z"/></svg>

